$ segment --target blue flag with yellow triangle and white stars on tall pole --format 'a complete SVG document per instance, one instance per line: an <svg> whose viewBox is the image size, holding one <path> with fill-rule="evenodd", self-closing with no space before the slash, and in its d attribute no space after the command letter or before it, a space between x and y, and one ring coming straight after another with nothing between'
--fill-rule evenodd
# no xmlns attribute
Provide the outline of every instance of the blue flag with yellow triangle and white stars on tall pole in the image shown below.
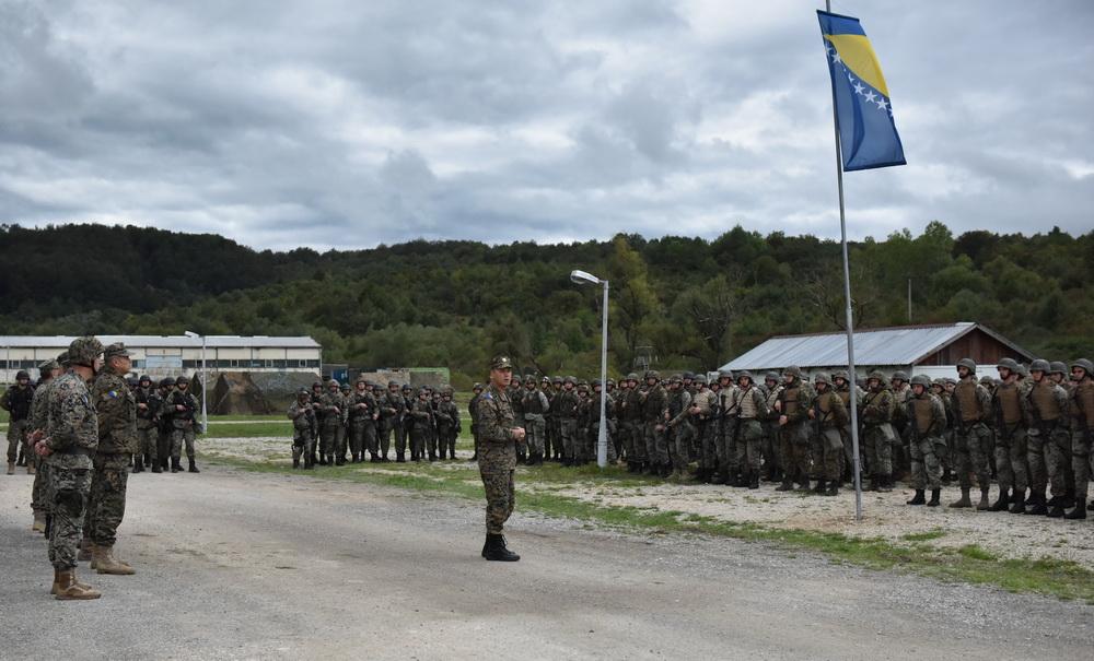
<svg viewBox="0 0 1094 661"><path fill-rule="evenodd" d="M843 170L905 165L877 56L858 19L817 11L828 55Z"/></svg>

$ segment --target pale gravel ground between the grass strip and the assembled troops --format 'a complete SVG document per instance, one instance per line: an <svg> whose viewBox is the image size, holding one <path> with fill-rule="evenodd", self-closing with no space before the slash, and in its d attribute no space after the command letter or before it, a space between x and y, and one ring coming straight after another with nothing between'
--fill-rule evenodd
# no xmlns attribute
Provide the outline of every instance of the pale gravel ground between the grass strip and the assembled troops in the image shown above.
<svg viewBox="0 0 1094 661"><path fill-rule="evenodd" d="M236 459L265 461L289 458L289 444L284 438L207 441L211 451ZM469 457L467 452L463 455ZM477 481L473 464L457 462L438 465L453 471L466 471L468 480ZM907 488L897 488L891 493L864 492L863 518L856 521L854 492L847 489L836 497L821 497L776 492L776 485L769 483L761 483L756 491L702 484L605 486L580 482L559 488L558 484L536 483L532 473L525 469L520 471L522 488L549 489L602 505L675 510L725 521L841 532L894 542L901 541L908 534L941 532L942 536L931 540L932 545L956 548L976 544L999 557L1069 559L1094 569L1094 518L1064 521L1009 512L951 509L945 504L957 498L959 492L956 487L943 489L942 507L906 505L905 501L913 495ZM994 494L992 487L992 496Z"/></svg>

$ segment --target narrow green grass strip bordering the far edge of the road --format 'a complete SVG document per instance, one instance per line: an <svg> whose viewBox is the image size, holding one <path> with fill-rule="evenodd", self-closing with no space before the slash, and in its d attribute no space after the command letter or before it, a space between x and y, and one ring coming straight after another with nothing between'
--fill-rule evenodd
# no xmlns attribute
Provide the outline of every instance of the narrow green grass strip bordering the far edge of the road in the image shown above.
<svg viewBox="0 0 1094 661"><path fill-rule="evenodd" d="M217 458L212 463L260 473L299 474L287 464L254 463L230 458ZM543 472L552 476L554 468L543 467ZM577 473L586 473L594 482L640 480L626 473L625 470L608 469L604 473L593 473L595 467L592 470L586 468L577 469ZM306 476L379 484L481 500L482 485L477 481L477 471L473 472L470 469L472 467L467 467L466 470L438 470L427 464L388 463L376 470L369 464L352 464L322 469ZM528 476L535 479L537 470L538 467L528 470L531 473ZM571 470L570 481L574 481L574 477ZM526 491L520 488L520 479L517 485L516 507L525 511L534 510L547 516L647 534L690 532L770 543L791 552L791 555L796 550L812 551L824 554L834 562L870 569L909 571L944 581L996 586L1011 592L1046 594L1064 600L1078 599L1094 604L1094 571L1078 563L1054 558L1000 559L975 544L962 546L956 552L935 548L924 542L945 534L938 529L904 535L904 541L913 542L912 545L905 545L881 538L856 538L842 533L724 521L676 510L605 506L561 496L555 493L557 487L551 485L539 491Z"/></svg>

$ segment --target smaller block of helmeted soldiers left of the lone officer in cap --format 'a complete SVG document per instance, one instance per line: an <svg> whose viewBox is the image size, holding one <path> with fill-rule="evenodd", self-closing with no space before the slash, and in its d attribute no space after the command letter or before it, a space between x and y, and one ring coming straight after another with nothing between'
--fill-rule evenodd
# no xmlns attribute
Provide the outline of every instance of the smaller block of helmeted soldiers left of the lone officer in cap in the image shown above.
<svg viewBox="0 0 1094 661"><path fill-rule="evenodd" d="M289 405L292 467L344 465L456 458L463 430L451 388L418 389L388 381L384 388L363 376L353 386L330 379L302 388ZM407 450L409 449L409 455Z"/></svg>

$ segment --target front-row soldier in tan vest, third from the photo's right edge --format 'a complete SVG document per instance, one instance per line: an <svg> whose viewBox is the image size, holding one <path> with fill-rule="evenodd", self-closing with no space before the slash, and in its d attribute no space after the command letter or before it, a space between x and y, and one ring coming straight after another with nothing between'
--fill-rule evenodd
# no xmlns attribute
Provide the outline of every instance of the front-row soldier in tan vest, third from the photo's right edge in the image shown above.
<svg viewBox="0 0 1094 661"><path fill-rule="evenodd" d="M1029 426L1017 383L1019 364L1013 358L999 362L999 386L992 394L996 423L996 471L999 476L999 499L990 511L1025 510L1028 486L1026 471L1026 428ZM1006 497L1010 491L1010 497Z"/></svg>

